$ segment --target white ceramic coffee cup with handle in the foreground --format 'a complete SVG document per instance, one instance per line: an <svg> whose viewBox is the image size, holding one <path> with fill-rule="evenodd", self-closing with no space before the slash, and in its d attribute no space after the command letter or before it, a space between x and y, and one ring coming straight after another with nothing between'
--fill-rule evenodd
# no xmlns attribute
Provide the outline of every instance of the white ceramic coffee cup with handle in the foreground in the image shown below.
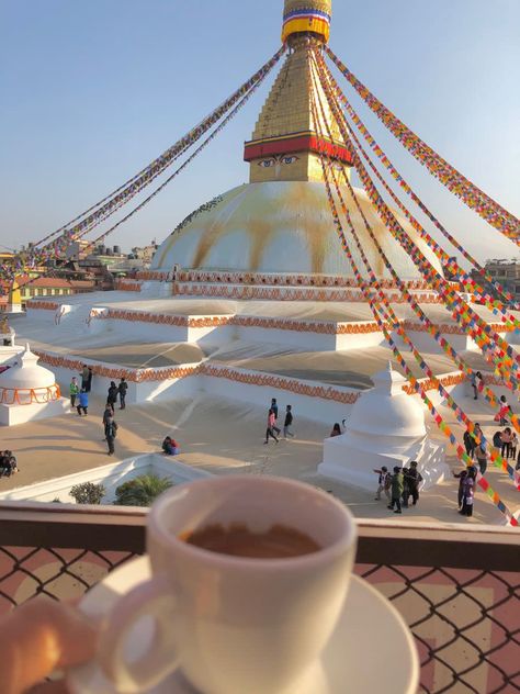
<svg viewBox="0 0 520 694"><path fill-rule="evenodd" d="M293 527L321 549L251 559L179 538L231 523L255 533L274 524ZM226 475L174 488L148 517L152 579L117 603L98 659L123 693L146 691L180 668L203 694L281 694L327 643L347 595L355 546L349 511L301 482ZM155 620L155 637L137 661L127 662L128 635L145 616Z"/></svg>

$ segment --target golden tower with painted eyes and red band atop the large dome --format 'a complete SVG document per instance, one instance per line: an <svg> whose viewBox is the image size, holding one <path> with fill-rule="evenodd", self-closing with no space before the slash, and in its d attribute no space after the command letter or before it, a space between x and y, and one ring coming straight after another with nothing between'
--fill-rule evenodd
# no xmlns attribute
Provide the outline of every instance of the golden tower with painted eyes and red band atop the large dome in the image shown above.
<svg viewBox="0 0 520 694"><path fill-rule="evenodd" d="M328 42L331 7L332 0L285 0L282 41L289 55L245 146L251 183L323 181L319 153L352 164L325 93L314 86L310 72L310 46ZM319 93L313 94L313 90ZM314 122L313 100L321 101L327 124L320 107L319 122Z"/></svg>

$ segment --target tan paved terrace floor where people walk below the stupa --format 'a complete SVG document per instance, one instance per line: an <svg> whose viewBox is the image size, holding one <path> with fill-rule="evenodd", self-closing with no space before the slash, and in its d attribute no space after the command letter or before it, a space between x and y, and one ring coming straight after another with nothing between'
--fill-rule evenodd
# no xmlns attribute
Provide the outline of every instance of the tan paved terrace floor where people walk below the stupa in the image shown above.
<svg viewBox="0 0 520 694"><path fill-rule="evenodd" d="M473 403L473 400L463 403L470 415L474 414ZM481 401L478 405L484 407ZM451 412L441 410L448 423L456 429L459 425ZM12 449L21 469L10 479L0 479L0 492L106 464L109 458L103 440L102 412L102 400L92 398L87 417L71 413L0 429L0 448ZM485 433L495 428L490 412L486 415L479 411L478 418ZM115 444L116 455L111 461L157 451L162 438L170 434L180 443L182 452L179 460L190 466L216 474L240 471L302 479L331 491L361 518L386 518L393 515L383 501L374 501L373 493L316 475L316 468L321 462L323 440L329 435L332 423L327 427L301 419L296 413L296 439L264 446L263 408L217 400L206 393L200 393L191 401L128 405L124 412L116 412L116 419L120 430ZM432 436L438 438L437 427L431 430ZM459 469L453 451L449 449L448 454L450 464ZM509 478L495 469L488 470L487 477L510 510L518 510L520 494ZM374 489L375 482L374 475ZM405 512L402 518L457 523L461 517L456 513L456 489L455 480L446 480L425 492L419 505ZM464 519L464 523L499 525L502 516L478 490L474 516Z"/></svg>

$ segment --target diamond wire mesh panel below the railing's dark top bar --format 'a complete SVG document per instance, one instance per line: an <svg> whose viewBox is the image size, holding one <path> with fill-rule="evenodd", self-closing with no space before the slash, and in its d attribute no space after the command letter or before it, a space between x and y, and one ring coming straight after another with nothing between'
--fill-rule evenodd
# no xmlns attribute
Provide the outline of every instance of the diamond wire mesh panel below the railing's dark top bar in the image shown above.
<svg viewBox="0 0 520 694"><path fill-rule="evenodd" d="M39 594L80 597L134 556L1 547L0 614ZM383 564L358 564L355 571L386 595L409 624L420 656L421 692L520 692L518 572Z"/></svg>

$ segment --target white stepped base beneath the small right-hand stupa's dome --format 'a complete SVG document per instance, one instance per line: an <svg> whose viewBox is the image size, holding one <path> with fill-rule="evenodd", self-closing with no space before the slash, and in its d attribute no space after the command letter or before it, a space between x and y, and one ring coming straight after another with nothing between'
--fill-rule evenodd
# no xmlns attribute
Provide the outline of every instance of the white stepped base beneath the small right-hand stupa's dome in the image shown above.
<svg viewBox="0 0 520 694"><path fill-rule="evenodd" d="M324 462L318 466L318 474L343 482L350 486L358 486L368 491L377 489L377 475L374 469L386 466L392 473L395 466L408 466L410 460L417 460L418 470L422 475L421 489L426 490L439 484L449 473L445 462L445 447L427 437L399 447L388 452L370 449L370 440L360 445L359 437L350 433L324 441ZM375 448L375 447L374 447Z"/></svg>

